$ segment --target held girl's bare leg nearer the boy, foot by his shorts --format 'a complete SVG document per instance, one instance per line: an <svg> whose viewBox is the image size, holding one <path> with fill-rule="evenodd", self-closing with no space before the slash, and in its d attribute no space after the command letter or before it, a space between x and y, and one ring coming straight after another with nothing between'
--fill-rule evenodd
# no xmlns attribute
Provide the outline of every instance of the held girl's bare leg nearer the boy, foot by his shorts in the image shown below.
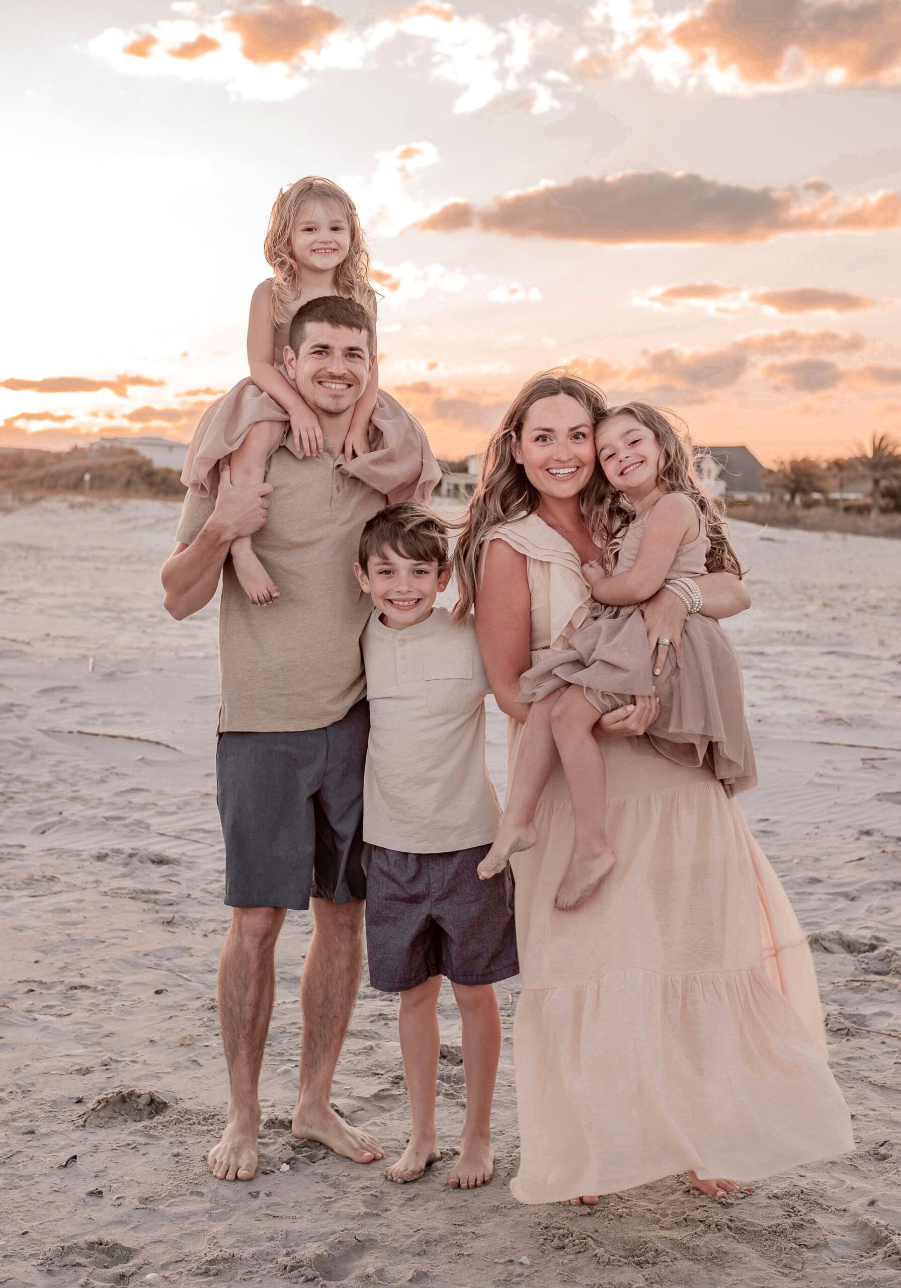
<svg viewBox="0 0 901 1288"><path fill-rule="evenodd" d="M479 864L479 876L483 881L503 872L511 854L530 850L535 844L537 832L532 819L538 799L557 762L551 712L559 697L559 693L548 693L539 702L533 702L529 708L516 752L516 768L507 790L503 818L494 845Z"/></svg>

